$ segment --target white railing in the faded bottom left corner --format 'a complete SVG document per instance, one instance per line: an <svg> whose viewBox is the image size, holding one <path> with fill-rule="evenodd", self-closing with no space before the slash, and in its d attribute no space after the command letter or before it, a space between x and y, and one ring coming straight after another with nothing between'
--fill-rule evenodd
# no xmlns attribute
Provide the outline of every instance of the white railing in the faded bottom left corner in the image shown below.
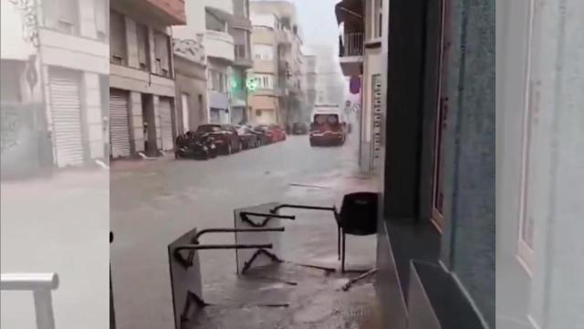
<svg viewBox="0 0 584 329"><path fill-rule="evenodd" d="M51 291L58 287L56 273L2 273L1 291L33 292L36 328L55 329Z"/></svg>

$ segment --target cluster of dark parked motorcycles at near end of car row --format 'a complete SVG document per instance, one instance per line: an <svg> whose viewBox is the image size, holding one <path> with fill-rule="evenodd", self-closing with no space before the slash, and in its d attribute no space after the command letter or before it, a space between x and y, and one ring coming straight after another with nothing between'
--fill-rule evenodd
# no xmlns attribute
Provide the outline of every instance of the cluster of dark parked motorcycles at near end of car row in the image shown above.
<svg viewBox="0 0 584 329"><path fill-rule="evenodd" d="M217 156L217 147L214 137L208 133L195 134L187 132L176 137L176 159L200 159L207 160Z"/></svg>

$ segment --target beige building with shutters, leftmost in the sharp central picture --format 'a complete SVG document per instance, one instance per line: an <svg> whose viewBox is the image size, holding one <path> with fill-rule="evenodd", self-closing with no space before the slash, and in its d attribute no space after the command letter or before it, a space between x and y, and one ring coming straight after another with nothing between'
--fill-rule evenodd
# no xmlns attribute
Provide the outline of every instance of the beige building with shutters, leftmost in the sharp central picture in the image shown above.
<svg viewBox="0 0 584 329"><path fill-rule="evenodd" d="M176 123L171 26L183 0L110 3L110 156L172 151Z"/></svg>

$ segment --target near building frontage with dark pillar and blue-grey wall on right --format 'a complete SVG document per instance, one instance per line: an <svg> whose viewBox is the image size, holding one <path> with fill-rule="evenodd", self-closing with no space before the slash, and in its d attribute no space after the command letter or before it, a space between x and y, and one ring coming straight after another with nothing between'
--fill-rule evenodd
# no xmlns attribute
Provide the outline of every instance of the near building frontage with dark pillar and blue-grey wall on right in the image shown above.
<svg viewBox="0 0 584 329"><path fill-rule="evenodd" d="M347 23L349 16L370 22L377 5L369 4L336 6L346 32L367 33ZM493 328L495 4L380 6L380 78L362 94L371 97L371 149L379 154L372 174L381 191L376 289L383 327ZM341 46L349 48L350 39L341 37ZM367 39L363 52L377 47ZM342 48L342 57L354 57ZM369 80L364 68L348 72L360 68L360 58L341 62Z"/></svg>

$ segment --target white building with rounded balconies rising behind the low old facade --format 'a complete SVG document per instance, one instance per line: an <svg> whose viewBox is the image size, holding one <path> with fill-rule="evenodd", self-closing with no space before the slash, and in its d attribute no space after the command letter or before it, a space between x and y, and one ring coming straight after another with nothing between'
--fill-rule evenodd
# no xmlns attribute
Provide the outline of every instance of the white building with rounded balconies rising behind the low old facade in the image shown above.
<svg viewBox="0 0 584 329"><path fill-rule="evenodd" d="M229 33L234 19L234 0L187 1L187 21L172 27L180 39L203 38L207 58L207 118L209 122L231 122L230 77L235 62L235 39Z"/></svg>

